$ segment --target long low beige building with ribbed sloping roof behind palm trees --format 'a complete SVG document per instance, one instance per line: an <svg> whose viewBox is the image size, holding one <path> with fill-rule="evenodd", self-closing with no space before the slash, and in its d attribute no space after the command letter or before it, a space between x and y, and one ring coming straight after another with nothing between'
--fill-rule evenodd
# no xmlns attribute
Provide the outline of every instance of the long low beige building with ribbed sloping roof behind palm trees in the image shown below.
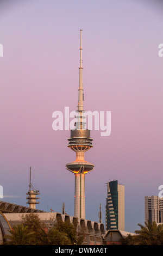
<svg viewBox="0 0 163 256"><path fill-rule="evenodd" d="M3 213L2 213L3 211ZM59 220L70 221L76 223L77 218L67 214L58 212L44 212L41 210L30 209L26 206L15 205L12 203L0 201L0 245L4 242L4 235L9 234L9 230L22 223L22 216L30 213L37 214L40 222L45 224L45 231L53 227L54 223ZM134 235L123 230L108 230L105 231L104 224L100 222L78 220L78 231L85 230L84 245L121 245L121 238L126 237L127 234Z"/></svg>

